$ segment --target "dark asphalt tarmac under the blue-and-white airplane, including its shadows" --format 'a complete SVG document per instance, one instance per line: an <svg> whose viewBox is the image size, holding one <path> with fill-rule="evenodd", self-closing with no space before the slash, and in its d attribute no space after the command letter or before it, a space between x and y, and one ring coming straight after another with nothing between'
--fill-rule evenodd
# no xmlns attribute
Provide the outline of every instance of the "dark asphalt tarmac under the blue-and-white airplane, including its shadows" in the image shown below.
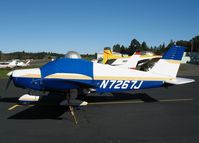
<svg viewBox="0 0 199 143"><path fill-rule="evenodd" d="M196 82L88 96L90 104L75 111L77 125L68 108L58 105L61 97L19 106L18 97L27 91L13 85L5 91L6 80L0 80L0 143L197 143L199 76L184 76Z"/></svg>

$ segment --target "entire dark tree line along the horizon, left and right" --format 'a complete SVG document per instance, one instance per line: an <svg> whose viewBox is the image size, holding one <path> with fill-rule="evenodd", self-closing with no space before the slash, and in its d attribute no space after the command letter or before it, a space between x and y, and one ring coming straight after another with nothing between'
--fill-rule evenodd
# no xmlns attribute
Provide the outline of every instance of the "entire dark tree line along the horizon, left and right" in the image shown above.
<svg viewBox="0 0 199 143"><path fill-rule="evenodd" d="M169 47L172 45L179 45L186 47L186 52L199 52L199 35L193 37L191 40L179 40L179 41L170 41L168 45L160 44L159 46L149 47L145 41L139 42L136 39L133 39L128 47L125 47L121 44L113 45L112 49L114 52L119 52L121 54L133 55L135 51L152 51L155 54L164 53ZM105 47L109 48L110 47ZM3 53L0 51L0 60L10 60L10 59L51 59L51 58L59 58L64 57L64 54L58 54L53 52L13 52L13 53ZM82 55L85 59L96 58L95 54L85 54Z"/></svg>

